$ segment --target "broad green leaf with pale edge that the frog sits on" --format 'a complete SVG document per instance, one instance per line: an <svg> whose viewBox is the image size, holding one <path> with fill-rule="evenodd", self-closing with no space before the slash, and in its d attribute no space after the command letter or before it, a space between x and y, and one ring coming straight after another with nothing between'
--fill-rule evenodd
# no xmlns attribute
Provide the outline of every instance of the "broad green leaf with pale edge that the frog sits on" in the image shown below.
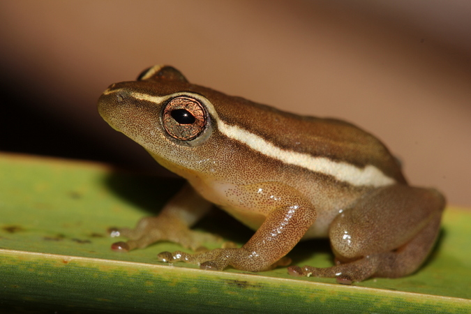
<svg viewBox="0 0 471 314"><path fill-rule="evenodd" d="M115 253L112 226L154 215L181 181L112 167L0 154L0 311L38 313L470 313L471 211L447 208L438 245L405 278L352 286L297 278L285 268L257 274L156 262L159 243ZM238 244L251 230L214 211L197 229ZM216 248L218 244L207 244ZM327 240L305 241L295 264L328 267Z"/></svg>

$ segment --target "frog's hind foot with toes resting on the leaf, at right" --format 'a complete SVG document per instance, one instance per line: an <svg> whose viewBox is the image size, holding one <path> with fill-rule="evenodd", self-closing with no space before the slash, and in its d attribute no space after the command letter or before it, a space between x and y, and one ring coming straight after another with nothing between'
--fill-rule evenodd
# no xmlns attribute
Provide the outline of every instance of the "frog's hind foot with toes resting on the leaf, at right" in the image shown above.
<svg viewBox="0 0 471 314"><path fill-rule="evenodd" d="M379 261L377 256L364 257L361 260L338 264L333 267L317 268L311 266L290 266L288 274L292 276L314 276L336 278L337 283L350 285L354 281L364 281L375 274Z"/></svg>

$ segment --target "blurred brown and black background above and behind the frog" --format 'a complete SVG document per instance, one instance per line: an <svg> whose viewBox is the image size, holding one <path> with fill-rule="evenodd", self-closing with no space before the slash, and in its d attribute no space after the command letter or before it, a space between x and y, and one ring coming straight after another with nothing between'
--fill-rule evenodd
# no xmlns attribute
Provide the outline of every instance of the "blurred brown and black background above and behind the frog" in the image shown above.
<svg viewBox="0 0 471 314"><path fill-rule="evenodd" d="M0 2L0 150L147 171L96 100L166 63L191 82L382 139L471 205L471 1Z"/></svg>

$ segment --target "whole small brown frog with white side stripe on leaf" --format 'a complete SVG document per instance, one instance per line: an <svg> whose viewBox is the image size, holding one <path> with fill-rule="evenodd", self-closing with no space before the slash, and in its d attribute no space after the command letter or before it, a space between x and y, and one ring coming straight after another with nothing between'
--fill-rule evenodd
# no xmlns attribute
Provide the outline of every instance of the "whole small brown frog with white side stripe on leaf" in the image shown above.
<svg viewBox="0 0 471 314"><path fill-rule="evenodd" d="M346 121L307 117L190 83L172 66L110 85L98 112L186 184L157 216L113 228L113 251L171 241L160 262L200 269L292 276L408 276L430 255L446 200L435 188L408 184L401 163L377 137ZM241 247L202 244L214 234L192 227L216 205L254 233ZM331 267L290 266L299 241L327 238ZM189 251L188 250L188 251ZM313 247L315 251L315 247Z"/></svg>

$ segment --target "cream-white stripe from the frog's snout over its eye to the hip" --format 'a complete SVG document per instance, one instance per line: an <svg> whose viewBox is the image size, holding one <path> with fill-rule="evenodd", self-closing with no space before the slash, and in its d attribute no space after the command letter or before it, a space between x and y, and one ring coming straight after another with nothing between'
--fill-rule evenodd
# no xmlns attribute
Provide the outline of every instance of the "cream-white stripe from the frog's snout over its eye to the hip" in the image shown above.
<svg viewBox="0 0 471 314"><path fill-rule="evenodd" d="M131 96L136 99L146 100L157 104L162 103L170 97L179 95L191 95L197 99L202 98L200 95L192 93L175 93L165 97L151 96L141 93L131 94ZM213 104L205 98L204 103L207 105L209 112L216 117L218 129L221 133L233 140L246 144L248 147L258 151L260 154L281 160L283 163L304 167L313 172L330 175L338 181L344 181L354 186L387 186L389 184L396 183L394 179L387 177L381 170L373 165L359 168L350 163L337 162L325 157L314 157L309 154L297 153L296 151L286 151L276 147L274 144L264 140L262 137L248 132L248 130L244 130L238 126L225 124L225 122L218 117Z"/></svg>

